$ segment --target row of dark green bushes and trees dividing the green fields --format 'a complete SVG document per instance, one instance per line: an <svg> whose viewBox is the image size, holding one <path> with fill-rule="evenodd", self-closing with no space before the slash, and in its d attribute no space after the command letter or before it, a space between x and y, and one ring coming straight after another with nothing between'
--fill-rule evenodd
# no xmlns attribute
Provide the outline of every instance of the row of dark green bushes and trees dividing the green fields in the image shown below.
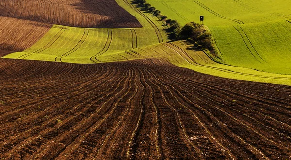
<svg viewBox="0 0 291 160"><path fill-rule="evenodd" d="M169 27L167 32L170 32L173 39L186 39L191 41L196 47L206 48L210 51L215 51L212 43L212 35L204 25L190 22L185 26L181 26L177 20L167 19L167 16L161 15L161 11L156 10L146 0L135 0L141 7L153 15L160 17Z"/></svg>

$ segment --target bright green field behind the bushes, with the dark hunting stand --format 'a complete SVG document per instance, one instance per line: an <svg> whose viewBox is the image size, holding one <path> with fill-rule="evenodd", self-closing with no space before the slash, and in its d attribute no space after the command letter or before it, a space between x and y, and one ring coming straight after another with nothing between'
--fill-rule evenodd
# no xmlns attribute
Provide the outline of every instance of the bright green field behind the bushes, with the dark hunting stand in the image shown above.
<svg viewBox="0 0 291 160"><path fill-rule="evenodd" d="M290 0L147 0L182 25L203 15L224 62L291 75Z"/></svg>

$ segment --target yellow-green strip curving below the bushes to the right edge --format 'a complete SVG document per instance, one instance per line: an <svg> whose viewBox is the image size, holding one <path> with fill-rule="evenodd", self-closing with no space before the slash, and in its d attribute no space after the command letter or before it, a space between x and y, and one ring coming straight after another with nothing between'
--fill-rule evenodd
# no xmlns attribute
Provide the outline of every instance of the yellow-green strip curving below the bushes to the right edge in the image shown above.
<svg viewBox="0 0 291 160"><path fill-rule="evenodd" d="M281 75L261 72L254 69L219 64L211 60L201 50L192 49L193 45L187 41L159 43L143 48L111 55L102 55L102 62L128 61L136 59L164 59L178 67L189 68L194 71L214 76L248 80L255 82L291 85L291 75Z"/></svg>

